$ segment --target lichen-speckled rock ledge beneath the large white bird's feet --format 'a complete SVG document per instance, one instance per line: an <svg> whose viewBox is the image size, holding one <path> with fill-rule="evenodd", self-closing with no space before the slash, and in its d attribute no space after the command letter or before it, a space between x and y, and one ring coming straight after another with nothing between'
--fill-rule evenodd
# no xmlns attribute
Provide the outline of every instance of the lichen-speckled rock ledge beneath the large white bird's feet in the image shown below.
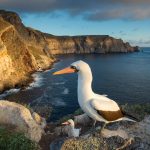
<svg viewBox="0 0 150 150"><path fill-rule="evenodd" d="M139 123L129 124L123 122L110 125L101 133L99 130L85 133L79 138L64 140L61 146L65 149L95 149L95 150L123 150L123 149L150 149L150 116L147 116Z"/></svg>

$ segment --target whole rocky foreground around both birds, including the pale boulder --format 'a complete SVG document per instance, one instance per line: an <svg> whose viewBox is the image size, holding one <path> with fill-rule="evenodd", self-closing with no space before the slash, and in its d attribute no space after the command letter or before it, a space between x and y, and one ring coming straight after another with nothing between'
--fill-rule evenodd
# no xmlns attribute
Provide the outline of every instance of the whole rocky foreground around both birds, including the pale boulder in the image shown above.
<svg viewBox="0 0 150 150"><path fill-rule="evenodd" d="M35 149L33 142L36 143L35 150L149 150L150 104L123 105L122 108L127 113L136 116L139 121L111 123L100 132L102 123L98 122L94 129L91 128L93 121L85 114L82 115L81 110L60 118L58 122L46 123L45 119L34 112L32 108L1 100L0 148L7 147L4 142L1 142L2 140L10 144L10 149L12 149L11 146L19 147L22 145L20 138L23 138L24 142L27 139L31 140L30 142L26 141L26 146L30 147L31 150ZM81 128L80 136L77 138L68 137L67 130L64 130L67 126L61 125L62 122L70 118L74 120L76 128ZM19 139L13 137L15 140L11 142L5 139L4 131L1 131L3 127L9 130L10 135L22 133L27 139L25 137ZM23 150L26 150L25 147Z"/></svg>

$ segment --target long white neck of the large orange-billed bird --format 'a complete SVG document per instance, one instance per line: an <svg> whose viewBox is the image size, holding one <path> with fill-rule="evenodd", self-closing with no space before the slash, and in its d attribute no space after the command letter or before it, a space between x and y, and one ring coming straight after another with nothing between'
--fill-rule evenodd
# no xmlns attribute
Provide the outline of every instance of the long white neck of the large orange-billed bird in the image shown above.
<svg viewBox="0 0 150 150"><path fill-rule="evenodd" d="M92 91L92 72L81 72L78 74L78 100L88 100L93 95Z"/></svg>

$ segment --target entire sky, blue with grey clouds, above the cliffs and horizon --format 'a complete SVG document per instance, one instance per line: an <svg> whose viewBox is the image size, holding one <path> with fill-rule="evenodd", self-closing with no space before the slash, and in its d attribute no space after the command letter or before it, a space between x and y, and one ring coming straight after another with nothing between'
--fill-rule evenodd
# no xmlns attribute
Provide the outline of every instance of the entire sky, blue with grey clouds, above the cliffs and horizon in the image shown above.
<svg viewBox="0 0 150 150"><path fill-rule="evenodd" d="M150 0L0 0L0 9L53 35L110 35L150 47Z"/></svg>

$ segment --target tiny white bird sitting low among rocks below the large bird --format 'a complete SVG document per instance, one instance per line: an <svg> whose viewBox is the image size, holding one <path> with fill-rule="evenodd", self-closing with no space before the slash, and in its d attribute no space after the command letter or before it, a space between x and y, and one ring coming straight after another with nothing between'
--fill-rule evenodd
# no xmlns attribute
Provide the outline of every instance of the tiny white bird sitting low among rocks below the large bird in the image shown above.
<svg viewBox="0 0 150 150"><path fill-rule="evenodd" d="M68 121L62 123L63 125L67 125L67 134L68 137L79 137L81 129L77 129L74 127L74 121L69 119Z"/></svg>

